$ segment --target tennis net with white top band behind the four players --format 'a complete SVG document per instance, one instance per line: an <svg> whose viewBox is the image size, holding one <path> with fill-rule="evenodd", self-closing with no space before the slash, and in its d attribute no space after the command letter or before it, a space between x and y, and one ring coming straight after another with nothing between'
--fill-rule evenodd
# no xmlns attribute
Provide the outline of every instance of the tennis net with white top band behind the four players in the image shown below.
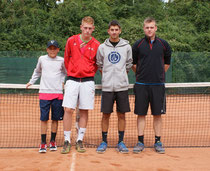
<svg viewBox="0 0 210 171"><path fill-rule="evenodd" d="M133 85L129 86L131 112L126 113L124 142L133 147L137 140L137 116L134 115ZM0 148L38 147L40 136L39 85L25 89L23 84L0 84ZM167 83L166 115L163 115L162 141L165 147L209 147L210 146L210 82ZM96 85L95 109L89 111L86 147L97 147L101 142L101 86ZM72 143L76 131L73 115ZM51 120L48 122L47 142L50 140ZM150 109L146 117L144 132L146 147L154 144L153 117ZM56 142L63 144L63 122L59 121ZM118 119L116 105L111 114L108 145L118 142Z"/></svg>

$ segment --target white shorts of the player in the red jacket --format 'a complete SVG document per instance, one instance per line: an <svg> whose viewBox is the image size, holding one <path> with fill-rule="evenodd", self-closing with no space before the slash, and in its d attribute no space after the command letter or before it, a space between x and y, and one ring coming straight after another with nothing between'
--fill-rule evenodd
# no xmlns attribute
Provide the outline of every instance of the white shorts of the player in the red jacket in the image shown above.
<svg viewBox="0 0 210 171"><path fill-rule="evenodd" d="M63 107L75 109L77 103L79 109L94 109L95 82L77 82L67 80L63 98Z"/></svg>

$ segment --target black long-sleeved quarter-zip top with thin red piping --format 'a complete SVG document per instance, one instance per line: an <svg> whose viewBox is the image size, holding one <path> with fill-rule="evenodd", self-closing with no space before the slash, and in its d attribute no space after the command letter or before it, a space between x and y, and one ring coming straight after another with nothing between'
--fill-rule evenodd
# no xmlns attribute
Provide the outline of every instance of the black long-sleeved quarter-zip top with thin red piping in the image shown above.
<svg viewBox="0 0 210 171"><path fill-rule="evenodd" d="M158 37L151 44L145 36L132 47L133 64L136 68L136 82L165 83L164 65L170 65L171 47Z"/></svg>

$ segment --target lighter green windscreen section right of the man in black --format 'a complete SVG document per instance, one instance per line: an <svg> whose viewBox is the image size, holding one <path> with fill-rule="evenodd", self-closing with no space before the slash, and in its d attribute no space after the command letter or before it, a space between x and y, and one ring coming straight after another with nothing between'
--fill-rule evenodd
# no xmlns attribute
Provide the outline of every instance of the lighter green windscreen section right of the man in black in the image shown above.
<svg viewBox="0 0 210 171"><path fill-rule="evenodd" d="M176 52L173 54L172 82L207 82L210 78L210 53Z"/></svg>

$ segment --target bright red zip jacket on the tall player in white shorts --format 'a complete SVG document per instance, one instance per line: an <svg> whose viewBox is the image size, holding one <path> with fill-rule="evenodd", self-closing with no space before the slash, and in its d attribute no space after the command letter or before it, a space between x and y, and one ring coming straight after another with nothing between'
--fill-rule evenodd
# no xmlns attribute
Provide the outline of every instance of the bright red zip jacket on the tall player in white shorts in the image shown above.
<svg viewBox="0 0 210 171"><path fill-rule="evenodd" d="M100 43L92 37L85 46L84 54L81 54L78 35L68 38L65 47L64 63L67 75L84 78L94 77L97 71L96 53Z"/></svg>

